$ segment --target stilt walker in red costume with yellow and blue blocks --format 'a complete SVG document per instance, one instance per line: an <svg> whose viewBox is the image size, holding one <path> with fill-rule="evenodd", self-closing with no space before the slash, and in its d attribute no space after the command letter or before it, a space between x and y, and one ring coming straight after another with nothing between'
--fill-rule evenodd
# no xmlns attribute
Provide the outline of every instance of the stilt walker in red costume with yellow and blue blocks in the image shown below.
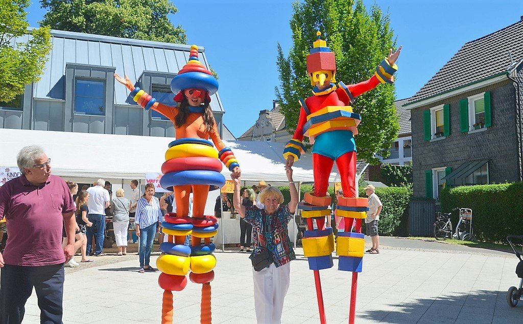
<svg viewBox="0 0 523 324"><path fill-rule="evenodd" d="M331 197L327 195L328 178L336 161L342 181L344 197L338 201L338 216L345 218L345 232L339 233L336 246L338 270L353 272L349 323L354 323L356 310L356 287L358 272L361 272L365 241L361 233L361 220L366 218L367 198L359 198L356 193L356 143L354 135L361 121L359 114L353 112L351 104L358 95L376 88L380 83L393 83L393 74L397 70L394 64L400 55L401 46L396 52L389 52L376 68L376 73L367 81L355 85L334 82L336 62L334 53L320 38L313 43L307 55L307 71L311 78L313 95L300 99L301 109L298 125L292 139L283 150L287 166L292 166L304 152L303 137L308 136L312 147L314 171L314 192L305 194L305 203L299 203L302 217L306 218L308 231L305 231L303 252L309 260L309 268L314 270L316 296L320 311L320 321L325 323L325 309L319 270L332 268L334 235L332 228L325 229L325 216L330 215L328 206ZM350 225L356 219L356 233L350 232ZM318 230L313 230L313 221Z"/></svg>

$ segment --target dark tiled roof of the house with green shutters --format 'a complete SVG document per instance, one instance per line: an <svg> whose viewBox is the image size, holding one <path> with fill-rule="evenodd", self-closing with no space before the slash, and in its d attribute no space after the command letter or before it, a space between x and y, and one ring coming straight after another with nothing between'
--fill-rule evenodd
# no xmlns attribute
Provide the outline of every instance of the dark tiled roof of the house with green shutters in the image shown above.
<svg viewBox="0 0 523 324"><path fill-rule="evenodd" d="M409 101L412 104L505 73L522 59L523 21L518 21L465 43Z"/></svg>

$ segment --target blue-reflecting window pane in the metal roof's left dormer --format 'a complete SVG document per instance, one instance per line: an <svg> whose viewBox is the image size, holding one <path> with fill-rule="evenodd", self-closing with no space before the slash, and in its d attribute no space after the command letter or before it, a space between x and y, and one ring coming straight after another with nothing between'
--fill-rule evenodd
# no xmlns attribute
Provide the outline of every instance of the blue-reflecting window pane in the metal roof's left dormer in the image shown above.
<svg viewBox="0 0 523 324"><path fill-rule="evenodd" d="M105 82L76 79L74 112L86 115L105 115Z"/></svg>

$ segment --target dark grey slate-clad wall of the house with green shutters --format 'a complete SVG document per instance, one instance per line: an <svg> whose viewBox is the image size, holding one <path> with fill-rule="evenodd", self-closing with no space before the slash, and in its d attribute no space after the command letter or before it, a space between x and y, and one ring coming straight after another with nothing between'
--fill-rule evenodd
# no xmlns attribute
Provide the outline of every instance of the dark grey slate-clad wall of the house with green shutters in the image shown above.
<svg viewBox="0 0 523 324"><path fill-rule="evenodd" d="M478 133L461 133L459 101L484 91L491 91L492 126ZM441 104L450 104L450 135L442 140L425 141L423 111ZM414 196L425 196L425 170L443 166L454 170L474 160L490 160L491 183L519 181L515 90L509 80L417 107L411 114Z"/></svg>

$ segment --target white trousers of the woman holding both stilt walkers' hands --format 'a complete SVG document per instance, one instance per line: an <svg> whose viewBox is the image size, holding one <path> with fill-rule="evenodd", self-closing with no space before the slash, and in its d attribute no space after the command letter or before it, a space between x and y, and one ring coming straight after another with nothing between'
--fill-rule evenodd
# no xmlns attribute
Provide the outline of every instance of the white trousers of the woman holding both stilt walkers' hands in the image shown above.
<svg viewBox="0 0 523 324"><path fill-rule="evenodd" d="M289 290L290 262L276 268L272 263L269 268L254 271L254 308L258 324L281 323L283 299Z"/></svg>

